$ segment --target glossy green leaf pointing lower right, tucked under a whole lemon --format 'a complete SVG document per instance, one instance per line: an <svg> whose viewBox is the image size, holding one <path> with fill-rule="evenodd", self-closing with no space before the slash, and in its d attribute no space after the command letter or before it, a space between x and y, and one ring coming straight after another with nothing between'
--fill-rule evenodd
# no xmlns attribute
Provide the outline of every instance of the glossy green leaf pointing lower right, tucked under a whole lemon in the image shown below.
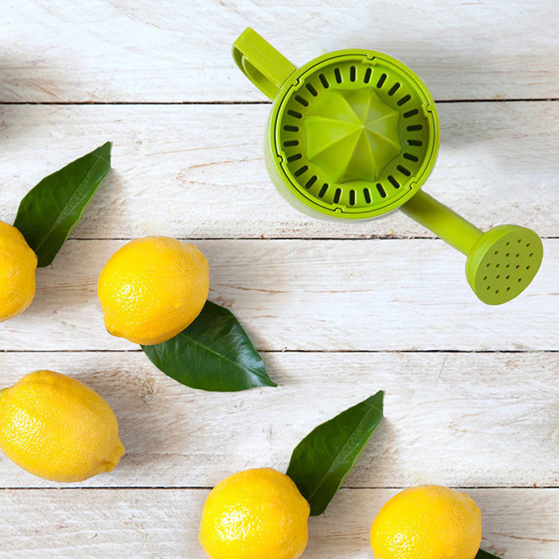
<svg viewBox="0 0 559 559"><path fill-rule="evenodd" d="M180 334L142 349L157 368L193 389L228 392L277 386L233 313L210 301Z"/></svg>

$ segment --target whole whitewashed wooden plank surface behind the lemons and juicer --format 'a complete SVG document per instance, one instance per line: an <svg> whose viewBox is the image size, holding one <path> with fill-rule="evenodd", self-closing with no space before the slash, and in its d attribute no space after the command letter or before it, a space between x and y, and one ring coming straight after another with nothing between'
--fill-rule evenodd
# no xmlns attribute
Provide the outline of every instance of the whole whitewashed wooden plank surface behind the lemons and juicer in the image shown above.
<svg viewBox="0 0 559 559"><path fill-rule="evenodd" d="M0 558L192 558L209 488L284 470L310 429L379 389L386 419L305 559L372 558L398 489L465 488L482 546L559 556L559 4L553 0L6 0L0 23L0 219L43 176L111 140L112 171L34 303L0 326L0 386L51 368L99 391L126 455L59 486L0 456ZM487 307L465 257L395 212L326 223L268 180L270 104L231 43L250 25L295 64L389 52L426 81L442 145L426 191L480 228L544 238L535 281ZM205 393L103 328L96 279L127 240L191 240L276 389Z"/></svg>

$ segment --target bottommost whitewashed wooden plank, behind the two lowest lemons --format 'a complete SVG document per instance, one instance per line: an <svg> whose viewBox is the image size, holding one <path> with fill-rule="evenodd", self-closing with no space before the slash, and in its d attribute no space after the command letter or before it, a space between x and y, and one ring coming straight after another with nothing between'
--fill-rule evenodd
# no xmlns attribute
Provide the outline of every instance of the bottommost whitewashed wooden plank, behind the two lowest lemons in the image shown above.
<svg viewBox="0 0 559 559"><path fill-rule="evenodd" d="M324 515L310 518L305 559L370 559L370 525L394 493L342 489ZM484 549L502 559L556 559L558 489L467 493L482 511ZM3 490L3 556L205 559L197 535L207 494L193 489Z"/></svg>

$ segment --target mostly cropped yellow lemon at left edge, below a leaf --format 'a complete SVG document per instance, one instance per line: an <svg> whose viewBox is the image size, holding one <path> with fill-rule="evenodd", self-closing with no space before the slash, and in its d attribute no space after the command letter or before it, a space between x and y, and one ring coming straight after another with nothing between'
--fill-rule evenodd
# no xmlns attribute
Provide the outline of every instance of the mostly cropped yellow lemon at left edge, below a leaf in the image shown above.
<svg viewBox="0 0 559 559"><path fill-rule="evenodd" d="M0 222L0 322L31 305L36 268L37 256L20 231Z"/></svg>

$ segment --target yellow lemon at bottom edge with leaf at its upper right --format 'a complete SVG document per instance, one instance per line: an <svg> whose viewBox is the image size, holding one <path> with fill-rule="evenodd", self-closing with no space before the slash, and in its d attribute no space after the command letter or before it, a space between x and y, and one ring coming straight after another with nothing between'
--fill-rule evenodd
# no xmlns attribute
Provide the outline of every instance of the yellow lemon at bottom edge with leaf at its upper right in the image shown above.
<svg viewBox="0 0 559 559"><path fill-rule="evenodd" d="M296 559L307 546L309 512L285 474L245 470L212 489L198 539L212 559Z"/></svg>

